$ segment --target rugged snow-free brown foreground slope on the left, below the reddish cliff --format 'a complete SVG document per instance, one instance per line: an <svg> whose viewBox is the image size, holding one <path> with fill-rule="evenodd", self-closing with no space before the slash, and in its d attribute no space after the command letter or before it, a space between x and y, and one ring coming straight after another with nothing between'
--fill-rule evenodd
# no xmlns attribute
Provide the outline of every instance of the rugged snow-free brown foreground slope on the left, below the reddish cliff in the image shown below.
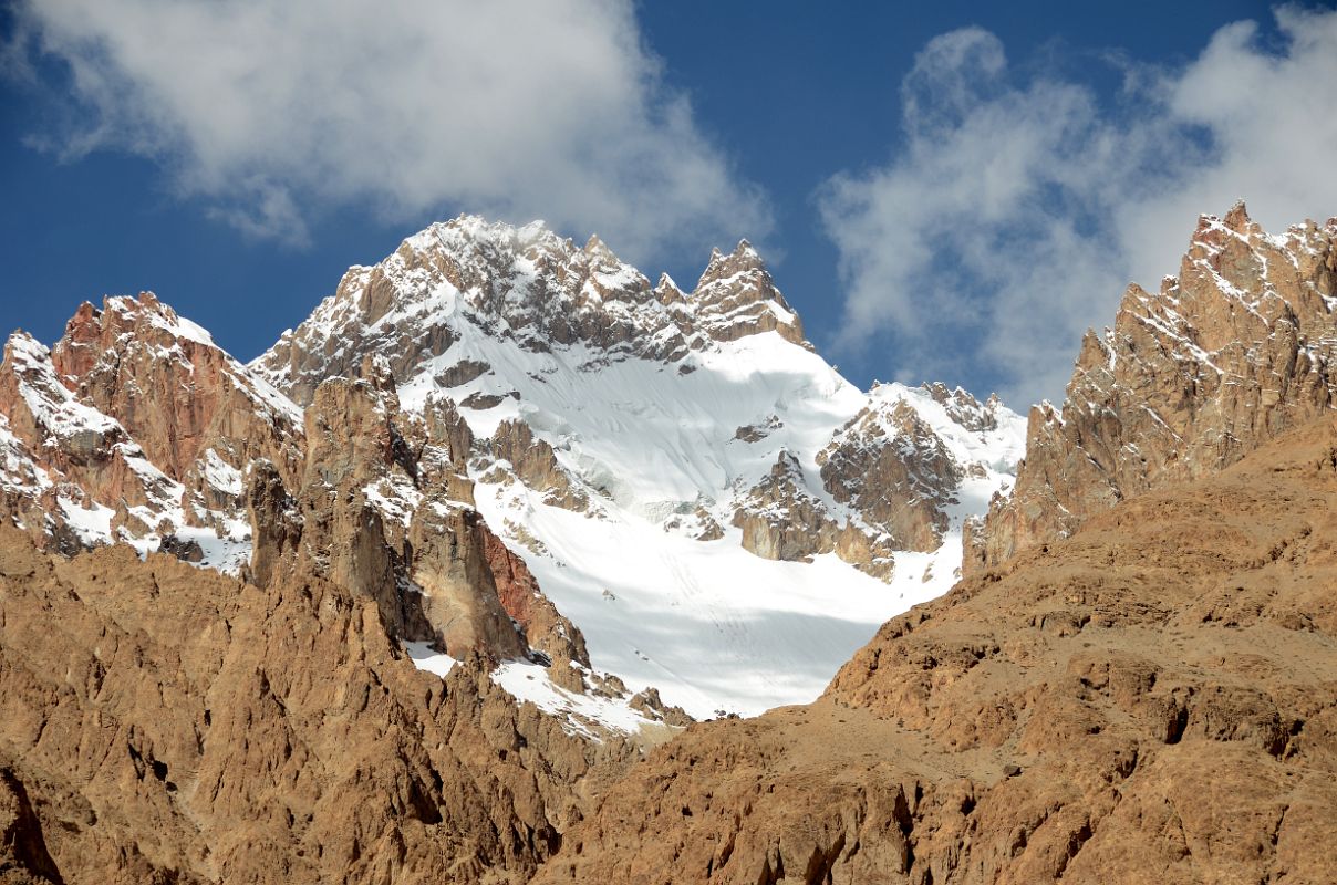
<svg viewBox="0 0 1337 885"><path fill-rule="evenodd" d="M632 753L414 670L320 579L0 551L11 881L519 884Z"/></svg>

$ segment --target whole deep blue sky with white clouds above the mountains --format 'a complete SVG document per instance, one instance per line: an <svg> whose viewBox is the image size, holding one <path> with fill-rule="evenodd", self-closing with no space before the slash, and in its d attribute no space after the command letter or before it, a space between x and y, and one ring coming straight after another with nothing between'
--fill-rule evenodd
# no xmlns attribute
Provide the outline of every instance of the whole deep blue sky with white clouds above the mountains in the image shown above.
<svg viewBox="0 0 1337 885"><path fill-rule="evenodd" d="M857 384L1020 406L1199 211L1337 215L1317 5L257 5L4 8L0 325L152 289L249 358L480 211L683 283L747 237Z"/></svg>

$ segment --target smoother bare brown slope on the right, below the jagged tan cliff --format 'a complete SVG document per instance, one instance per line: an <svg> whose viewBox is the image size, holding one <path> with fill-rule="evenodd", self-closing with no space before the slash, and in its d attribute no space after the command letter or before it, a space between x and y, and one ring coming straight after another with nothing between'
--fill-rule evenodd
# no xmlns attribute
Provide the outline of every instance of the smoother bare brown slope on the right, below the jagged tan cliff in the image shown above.
<svg viewBox="0 0 1337 885"><path fill-rule="evenodd" d="M535 882L1326 882L1337 421L890 620L814 705L693 726Z"/></svg>

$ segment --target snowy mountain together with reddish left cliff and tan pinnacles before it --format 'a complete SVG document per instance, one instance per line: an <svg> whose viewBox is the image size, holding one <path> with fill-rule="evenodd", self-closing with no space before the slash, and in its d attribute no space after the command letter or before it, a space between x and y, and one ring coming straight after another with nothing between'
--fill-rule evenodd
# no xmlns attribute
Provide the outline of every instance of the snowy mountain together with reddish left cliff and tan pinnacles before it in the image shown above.
<svg viewBox="0 0 1337 885"><path fill-rule="evenodd" d="M0 364L0 503L39 544L318 575L420 666L483 655L595 731L814 698L953 583L1023 433L996 398L856 389L746 242L686 293L473 217L249 366L147 293Z"/></svg>

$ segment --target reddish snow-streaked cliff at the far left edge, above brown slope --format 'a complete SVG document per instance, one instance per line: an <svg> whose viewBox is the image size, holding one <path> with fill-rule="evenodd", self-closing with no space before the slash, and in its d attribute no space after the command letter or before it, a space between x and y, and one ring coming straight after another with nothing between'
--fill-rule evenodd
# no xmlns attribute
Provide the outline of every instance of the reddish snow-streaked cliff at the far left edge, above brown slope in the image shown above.
<svg viewBox="0 0 1337 885"><path fill-rule="evenodd" d="M0 503L41 545L130 543L223 571L249 556L243 475L291 480L302 416L152 294L84 303L0 364Z"/></svg>

